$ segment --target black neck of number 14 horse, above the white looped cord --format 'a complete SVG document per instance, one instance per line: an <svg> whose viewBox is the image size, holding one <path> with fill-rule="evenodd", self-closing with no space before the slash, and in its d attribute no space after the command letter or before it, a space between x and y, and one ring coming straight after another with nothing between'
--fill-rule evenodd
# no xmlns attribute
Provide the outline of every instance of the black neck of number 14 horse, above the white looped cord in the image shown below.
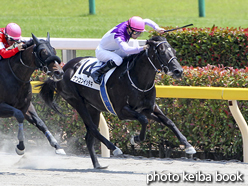
<svg viewBox="0 0 248 186"><path fill-rule="evenodd" d="M134 67L130 70L130 77L139 88L147 89L154 83L156 72L145 53L134 58Z"/></svg>

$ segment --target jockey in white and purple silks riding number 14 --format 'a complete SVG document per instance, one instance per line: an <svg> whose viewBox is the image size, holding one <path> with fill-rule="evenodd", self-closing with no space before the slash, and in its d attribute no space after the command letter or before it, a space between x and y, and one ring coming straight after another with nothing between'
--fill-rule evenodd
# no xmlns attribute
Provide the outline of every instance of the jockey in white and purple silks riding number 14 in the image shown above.
<svg viewBox="0 0 248 186"><path fill-rule="evenodd" d="M100 77L102 74L106 73L111 68L120 66L123 57L130 54L137 54L148 48L147 45L136 47L130 47L128 45L130 38L137 39L142 32L146 31L145 25L152 27L159 33L165 31L150 19L142 19L141 17L133 16L128 21L122 22L109 30L102 37L95 53L97 59L105 63L91 74L95 83L100 84Z"/></svg>

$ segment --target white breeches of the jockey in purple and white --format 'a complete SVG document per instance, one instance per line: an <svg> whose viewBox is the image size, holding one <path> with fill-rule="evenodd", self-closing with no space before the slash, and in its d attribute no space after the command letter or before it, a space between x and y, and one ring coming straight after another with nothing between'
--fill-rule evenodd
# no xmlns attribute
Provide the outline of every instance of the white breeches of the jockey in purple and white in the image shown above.
<svg viewBox="0 0 248 186"><path fill-rule="evenodd" d="M127 56L127 54L124 53L121 49L111 52L108 50L104 50L99 46L96 48L95 52L96 58L98 60L107 62L108 60L112 59L117 66L120 66L123 61L123 57Z"/></svg>

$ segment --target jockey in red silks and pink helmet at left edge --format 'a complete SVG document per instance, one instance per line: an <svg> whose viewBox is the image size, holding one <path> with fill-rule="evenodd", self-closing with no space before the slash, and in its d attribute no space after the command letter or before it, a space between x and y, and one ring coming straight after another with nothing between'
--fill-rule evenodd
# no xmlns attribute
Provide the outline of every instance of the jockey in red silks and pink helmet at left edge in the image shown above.
<svg viewBox="0 0 248 186"><path fill-rule="evenodd" d="M21 28L16 23L9 23L5 28L0 28L0 60L24 50L20 39Z"/></svg>

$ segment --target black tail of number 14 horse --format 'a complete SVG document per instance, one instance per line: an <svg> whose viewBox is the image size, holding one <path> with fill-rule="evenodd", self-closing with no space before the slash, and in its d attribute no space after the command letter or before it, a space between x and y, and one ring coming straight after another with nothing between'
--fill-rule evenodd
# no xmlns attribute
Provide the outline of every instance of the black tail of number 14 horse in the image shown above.
<svg viewBox="0 0 248 186"><path fill-rule="evenodd" d="M56 84L57 84L57 82L55 82L51 79L47 79L42 84L37 85L37 87L40 88L39 95L44 100L46 105L48 105L51 109L53 109L58 114L63 115L60 112L59 106L54 101L55 100L55 92L57 92ZM59 94L57 94L56 96L59 96Z"/></svg>

